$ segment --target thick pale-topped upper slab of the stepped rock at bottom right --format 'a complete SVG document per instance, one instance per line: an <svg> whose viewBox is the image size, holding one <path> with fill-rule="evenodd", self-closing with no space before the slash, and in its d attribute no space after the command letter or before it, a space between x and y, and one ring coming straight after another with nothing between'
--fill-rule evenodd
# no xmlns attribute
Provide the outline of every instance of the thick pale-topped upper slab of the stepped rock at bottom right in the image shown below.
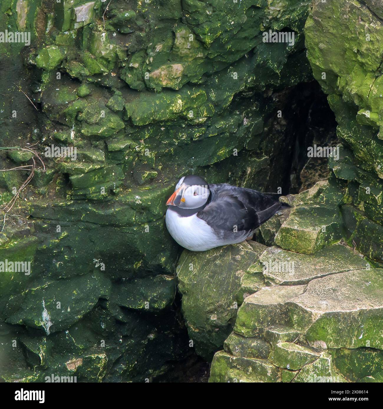
<svg viewBox="0 0 383 409"><path fill-rule="evenodd" d="M234 331L244 336L282 324L306 333L311 346L382 348L383 270L354 270L305 285L264 287L238 310Z"/></svg>

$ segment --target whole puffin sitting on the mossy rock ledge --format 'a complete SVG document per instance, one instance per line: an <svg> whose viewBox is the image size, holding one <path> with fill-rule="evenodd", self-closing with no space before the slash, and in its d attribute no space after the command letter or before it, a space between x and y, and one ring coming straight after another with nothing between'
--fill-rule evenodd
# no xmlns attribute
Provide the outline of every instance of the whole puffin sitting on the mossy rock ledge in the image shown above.
<svg viewBox="0 0 383 409"><path fill-rule="evenodd" d="M276 212L290 207L279 201L280 196L186 175L166 202L166 227L179 245L193 252L240 243L251 240L254 230Z"/></svg>

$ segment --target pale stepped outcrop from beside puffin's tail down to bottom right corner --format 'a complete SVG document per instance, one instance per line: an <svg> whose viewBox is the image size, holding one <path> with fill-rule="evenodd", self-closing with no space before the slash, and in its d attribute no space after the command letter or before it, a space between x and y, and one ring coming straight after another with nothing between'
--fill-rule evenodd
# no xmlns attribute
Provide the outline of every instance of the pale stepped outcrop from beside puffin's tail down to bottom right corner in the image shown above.
<svg viewBox="0 0 383 409"><path fill-rule="evenodd" d="M258 258L263 266L258 274L265 284L259 287L257 278L254 291L245 294L233 332L214 355L210 382L380 379L376 360L382 356L377 351L383 349L382 266L363 258L343 240L334 244L333 237L313 254L305 254L307 224L295 223L296 215L302 214L300 208L311 209L303 219L310 226L321 225L322 207L339 214L335 198L340 202L344 198L332 192L332 184L318 182L290 197L290 215L276 215L266 223L263 230L268 240L271 228L279 227L274 230L274 245L265 247ZM292 225L300 253L290 250L291 239L280 240L288 236L284 226L291 229ZM360 356L363 362L358 361Z"/></svg>

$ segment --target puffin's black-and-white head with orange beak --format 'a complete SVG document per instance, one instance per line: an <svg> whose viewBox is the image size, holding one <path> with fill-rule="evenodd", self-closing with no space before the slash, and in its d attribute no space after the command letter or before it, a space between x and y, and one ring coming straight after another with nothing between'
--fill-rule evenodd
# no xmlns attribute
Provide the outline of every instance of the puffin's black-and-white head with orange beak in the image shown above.
<svg viewBox="0 0 383 409"><path fill-rule="evenodd" d="M186 175L179 180L166 205L202 210L209 200L210 189L206 180L196 175Z"/></svg>

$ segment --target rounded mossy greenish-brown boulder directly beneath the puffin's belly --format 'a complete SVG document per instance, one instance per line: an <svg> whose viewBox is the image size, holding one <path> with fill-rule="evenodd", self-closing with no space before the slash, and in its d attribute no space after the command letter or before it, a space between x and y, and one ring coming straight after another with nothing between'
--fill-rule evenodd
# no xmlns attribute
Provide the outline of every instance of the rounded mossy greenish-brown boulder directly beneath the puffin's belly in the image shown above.
<svg viewBox="0 0 383 409"><path fill-rule="evenodd" d="M231 333L241 277L265 246L247 242L207 252L184 250L177 266L182 313L197 353L211 357Z"/></svg>

